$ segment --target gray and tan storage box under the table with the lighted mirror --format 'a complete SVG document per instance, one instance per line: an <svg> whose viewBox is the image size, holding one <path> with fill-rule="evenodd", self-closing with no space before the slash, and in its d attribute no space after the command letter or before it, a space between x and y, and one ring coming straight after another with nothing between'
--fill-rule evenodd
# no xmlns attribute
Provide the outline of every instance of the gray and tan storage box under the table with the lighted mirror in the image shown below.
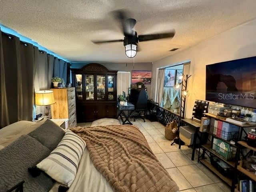
<svg viewBox="0 0 256 192"><path fill-rule="evenodd" d="M180 126L180 139L186 145L192 145L194 142L195 132L196 132L195 128L192 128L190 126ZM196 144L198 144L199 142L200 142L199 139L197 139Z"/></svg>

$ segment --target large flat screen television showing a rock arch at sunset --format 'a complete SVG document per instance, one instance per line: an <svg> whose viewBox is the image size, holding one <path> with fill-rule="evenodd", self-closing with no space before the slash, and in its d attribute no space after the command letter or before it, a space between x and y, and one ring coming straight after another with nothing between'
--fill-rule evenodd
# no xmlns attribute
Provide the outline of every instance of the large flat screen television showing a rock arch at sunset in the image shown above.
<svg viewBox="0 0 256 192"><path fill-rule="evenodd" d="M256 57L206 65L206 100L256 108Z"/></svg>

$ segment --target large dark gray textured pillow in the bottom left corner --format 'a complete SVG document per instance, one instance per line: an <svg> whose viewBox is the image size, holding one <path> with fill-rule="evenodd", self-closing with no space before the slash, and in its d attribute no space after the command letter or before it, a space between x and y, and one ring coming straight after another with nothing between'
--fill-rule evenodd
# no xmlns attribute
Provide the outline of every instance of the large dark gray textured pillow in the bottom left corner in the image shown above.
<svg viewBox="0 0 256 192"><path fill-rule="evenodd" d="M6 192L22 180L24 192L48 192L54 180L42 172L32 177L28 168L35 166L50 154L50 150L34 138L23 135L0 150L0 192Z"/></svg>

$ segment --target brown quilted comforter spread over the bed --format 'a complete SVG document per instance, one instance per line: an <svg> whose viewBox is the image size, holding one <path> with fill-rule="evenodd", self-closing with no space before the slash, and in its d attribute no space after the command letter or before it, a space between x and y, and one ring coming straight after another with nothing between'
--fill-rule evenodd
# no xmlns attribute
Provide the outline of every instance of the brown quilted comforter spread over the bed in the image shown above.
<svg viewBox="0 0 256 192"><path fill-rule="evenodd" d="M179 190L136 126L108 125L70 130L86 141L94 166L105 176L114 191Z"/></svg>

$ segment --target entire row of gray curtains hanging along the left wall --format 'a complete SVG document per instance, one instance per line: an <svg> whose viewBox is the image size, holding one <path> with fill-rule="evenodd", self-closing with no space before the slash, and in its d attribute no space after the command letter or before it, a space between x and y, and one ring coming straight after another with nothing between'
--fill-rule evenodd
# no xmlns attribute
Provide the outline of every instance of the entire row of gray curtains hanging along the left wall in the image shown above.
<svg viewBox="0 0 256 192"><path fill-rule="evenodd" d="M67 65L0 30L0 128L20 120L33 120L34 91L51 87L55 68L56 76L66 82ZM36 113L44 109L36 108Z"/></svg>

